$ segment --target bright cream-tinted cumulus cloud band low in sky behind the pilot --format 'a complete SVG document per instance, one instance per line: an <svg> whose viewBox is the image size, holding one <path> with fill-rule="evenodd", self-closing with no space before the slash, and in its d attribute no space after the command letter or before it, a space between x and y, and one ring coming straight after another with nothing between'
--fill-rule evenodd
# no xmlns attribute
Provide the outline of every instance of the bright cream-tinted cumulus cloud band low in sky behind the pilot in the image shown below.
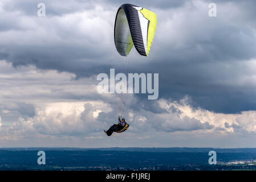
<svg viewBox="0 0 256 182"><path fill-rule="evenodd" d="M158 108L154 110L148 106L152 101L141 102L141 98L134 94L96 93L95 77L76 80L71 73L41 71L33 66L13 68L6 61L1 61L0 69L3 71L0 81L6 83L1 93L10 92L13 96L1 102L0 143L3 145L6 142L31 140L46 145L50 143L46 142L49 138L60 143L66 138L64 141L75 141L71 146L76 147L86 147L84 140L100 140L94 145L100 147L109 140L103 129L116 123L119 113L123 113L131 125L129 133L124 135L136 141L136 145L159 135L170 137L173 133L188 135L189 132L196 132L196 136L221 132L222 136L235 134L251 137L256 133L255 111L243 111L241 114L214 113L193 107L188 97L180 101L154 101L154 104L150 104ZM67 97L67 93L71 96L80 93L80 98ZM111 140L118 138L119 134L114 134ZM158 141L156 145L165 142ZM25 142L23 145L27 144Z"/></svg>

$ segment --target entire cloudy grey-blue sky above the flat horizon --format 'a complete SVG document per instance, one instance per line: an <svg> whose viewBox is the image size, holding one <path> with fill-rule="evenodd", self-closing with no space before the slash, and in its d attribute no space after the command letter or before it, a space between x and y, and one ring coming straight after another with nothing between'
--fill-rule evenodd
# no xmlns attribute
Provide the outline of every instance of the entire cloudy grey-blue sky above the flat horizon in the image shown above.
<svg viewBox="0 0 256 182"><path fill-rule="evenodd" d="M116 51L128 2L157 14L149 57ZM255 12L254 0L0 0L0 147L256 147ZM159 73L159 98L97 93L110 68ZM119 113L131 127L107 137Z"/></svg>

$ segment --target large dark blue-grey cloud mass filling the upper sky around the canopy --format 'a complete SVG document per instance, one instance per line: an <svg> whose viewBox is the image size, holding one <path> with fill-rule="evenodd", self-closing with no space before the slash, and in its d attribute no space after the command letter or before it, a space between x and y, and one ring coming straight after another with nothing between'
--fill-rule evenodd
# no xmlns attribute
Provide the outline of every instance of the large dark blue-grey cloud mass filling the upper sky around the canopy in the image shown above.
<svg viewBox="0 0 256 182"><path fill-rule="evenodd" d="M256 58L255 1L215 1L216 18L208 16L210 1L129 2L158 15L148 58L135 50L123 58L115 50L113 23L124 1L46 1L46 18L36 16L38 2L3 1L3 14L13 16L0 19L0 59L14 67L32 64L75 73L76 78L108 73L109 68L159 73L159 98L189 96L194 107L220 113L256 110L253 79L242 82L255 75L250 69ZM89 15L83 22L76 13ZM138 101L143 100L139 95ZM143 102L147 104L129 107L162 112Z"/></svg>

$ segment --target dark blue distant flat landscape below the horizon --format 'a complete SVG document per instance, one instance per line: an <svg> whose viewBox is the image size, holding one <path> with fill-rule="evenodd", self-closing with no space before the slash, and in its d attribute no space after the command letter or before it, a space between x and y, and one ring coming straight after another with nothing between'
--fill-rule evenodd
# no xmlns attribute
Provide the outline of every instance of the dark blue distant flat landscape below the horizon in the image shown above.
<svg viewBox="0 0 256 182"><path fill-rule="evenodd" d="M256 170L256 148L0 148L0 170Z"/></svg>

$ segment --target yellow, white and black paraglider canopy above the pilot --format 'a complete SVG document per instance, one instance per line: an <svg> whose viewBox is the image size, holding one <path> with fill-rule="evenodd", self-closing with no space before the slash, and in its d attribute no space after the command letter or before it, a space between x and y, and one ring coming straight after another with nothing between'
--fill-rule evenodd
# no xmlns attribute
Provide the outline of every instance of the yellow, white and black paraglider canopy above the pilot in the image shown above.
<svg viewBox="0 0 256 182"><path fill-rule="evenodd" d="M124 4L115 20L115 45L122 56L127 56L133 45L140 55L148 56L155 36L157 16L143 7Z"/></svg>

